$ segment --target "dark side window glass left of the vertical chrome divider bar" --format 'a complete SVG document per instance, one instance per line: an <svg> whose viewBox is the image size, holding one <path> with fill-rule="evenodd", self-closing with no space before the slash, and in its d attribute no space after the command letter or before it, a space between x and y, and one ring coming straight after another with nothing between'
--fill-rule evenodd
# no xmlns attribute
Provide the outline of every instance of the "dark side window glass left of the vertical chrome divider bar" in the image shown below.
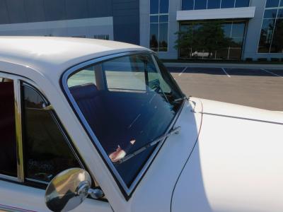
<svg viewBox="0 0 283 212"><path fill-rule="evenodd" d="M0 81L0 174L17 176L13 81Z"/></svg>

